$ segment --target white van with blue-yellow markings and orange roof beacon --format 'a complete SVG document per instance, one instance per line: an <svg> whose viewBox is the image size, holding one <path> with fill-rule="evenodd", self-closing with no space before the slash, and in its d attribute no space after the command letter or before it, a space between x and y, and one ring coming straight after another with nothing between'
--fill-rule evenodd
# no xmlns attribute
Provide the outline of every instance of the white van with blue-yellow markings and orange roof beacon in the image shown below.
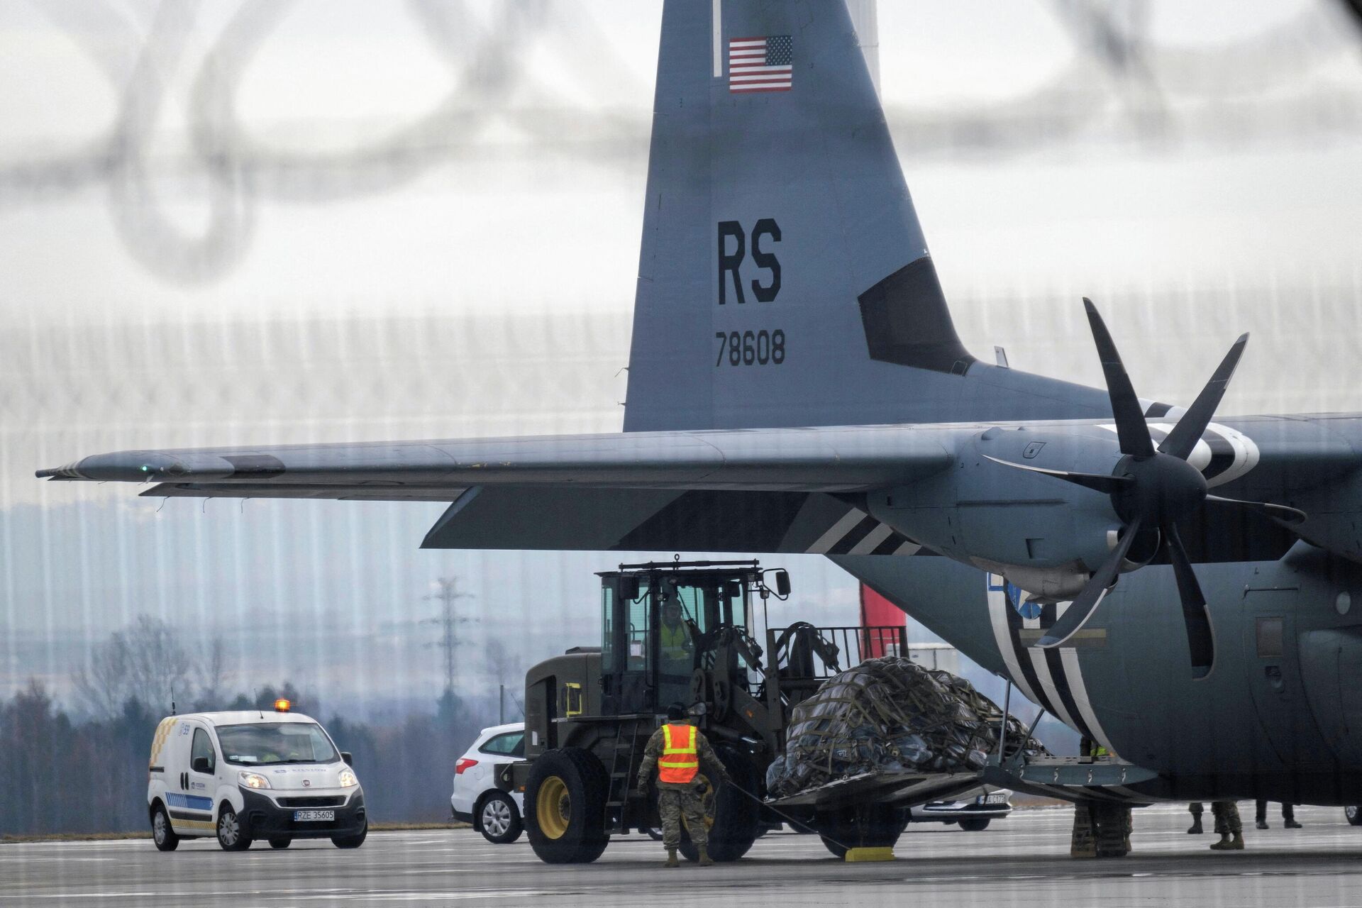
<svg viewBox="0 0 1362 908"><path fill-rule="evenodd" d="M315 720L289 712L287 700L274 712L162 719L147 777L151 839L161 851L212 834L226 851L256 839L271 848L294 839L358 848L369 829L350 754Z"/></svg>

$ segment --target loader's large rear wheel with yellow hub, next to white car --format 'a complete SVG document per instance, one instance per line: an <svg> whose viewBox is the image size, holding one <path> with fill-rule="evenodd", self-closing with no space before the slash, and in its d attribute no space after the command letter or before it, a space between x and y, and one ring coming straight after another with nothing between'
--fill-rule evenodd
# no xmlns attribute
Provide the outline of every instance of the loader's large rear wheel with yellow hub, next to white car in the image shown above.
<svg viewBox="0 0 1362 908"><path fill-rule="evenodd" d="M546 864L588 864L610 844L606 771L582 747L546 750L524 787L524 830Z"/></svg>

